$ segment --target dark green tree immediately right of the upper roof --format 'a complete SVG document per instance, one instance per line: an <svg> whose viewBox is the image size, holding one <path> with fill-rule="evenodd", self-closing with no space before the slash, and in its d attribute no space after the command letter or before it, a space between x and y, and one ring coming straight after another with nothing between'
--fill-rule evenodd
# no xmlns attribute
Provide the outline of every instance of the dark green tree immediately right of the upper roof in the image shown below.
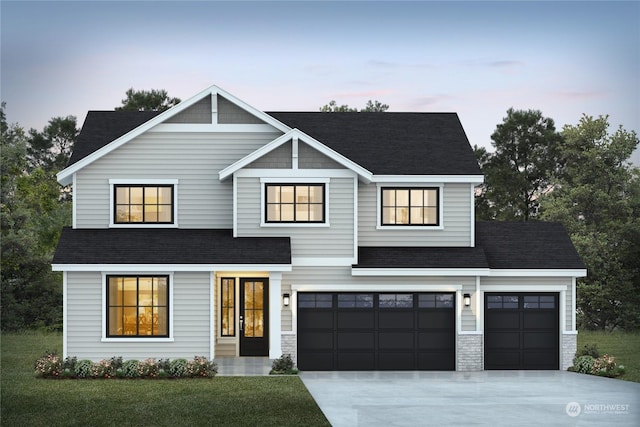
<svg viewBox="0 0 640 427"><path fill-rule="evenodd" d="M485 175L478 217L528 221L537 216L540 196L552 188L561 137L553 119L538 110L510 108L503 120L491 135L495 152L476 150Z"/></svg>

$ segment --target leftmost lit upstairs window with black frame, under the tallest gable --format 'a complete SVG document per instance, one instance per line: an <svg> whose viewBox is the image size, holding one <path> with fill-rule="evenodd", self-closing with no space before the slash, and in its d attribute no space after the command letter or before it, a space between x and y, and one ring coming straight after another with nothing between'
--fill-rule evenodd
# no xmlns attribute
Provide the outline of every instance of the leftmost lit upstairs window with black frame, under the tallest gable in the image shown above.
<svg viewBox="0 0 640 427"><path fill-rule="evenodd" d="M174 186L114 185L115 224L173 224Z"/></svg>

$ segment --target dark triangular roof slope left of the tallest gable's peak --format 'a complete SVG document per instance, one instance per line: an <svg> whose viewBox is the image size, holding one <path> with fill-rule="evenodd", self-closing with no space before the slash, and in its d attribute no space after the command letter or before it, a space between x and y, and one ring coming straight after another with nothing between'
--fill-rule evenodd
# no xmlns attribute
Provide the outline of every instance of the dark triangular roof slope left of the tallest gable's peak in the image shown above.
<svg viewBox="0 0 640 427"><path fill-rule="evenodd" d="M111 141L160 114L159 111L89 111L69 165L87 157Z"/></svg>

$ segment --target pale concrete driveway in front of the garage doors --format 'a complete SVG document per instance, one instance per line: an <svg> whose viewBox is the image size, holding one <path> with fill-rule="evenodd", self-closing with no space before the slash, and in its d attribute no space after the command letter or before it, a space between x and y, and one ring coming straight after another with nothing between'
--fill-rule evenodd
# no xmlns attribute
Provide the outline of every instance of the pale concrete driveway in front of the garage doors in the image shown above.
<svg viewBox="0 0 640 427"><path fill-rule="evenodd" d="M566 371L303 372L334 427L640 426L640 384Z"/></svg>

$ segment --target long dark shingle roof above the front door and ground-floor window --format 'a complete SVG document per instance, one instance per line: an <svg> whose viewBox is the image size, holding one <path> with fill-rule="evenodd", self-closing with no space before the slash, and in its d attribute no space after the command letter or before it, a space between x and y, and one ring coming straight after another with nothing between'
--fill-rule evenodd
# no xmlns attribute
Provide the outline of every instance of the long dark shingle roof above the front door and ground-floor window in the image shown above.
<svg viewBox="0 0 640 427"><path fill-rule="evenodd" d="M232 230L71 229L53 264L290 264L288 237L234 238Z"/></svg>

